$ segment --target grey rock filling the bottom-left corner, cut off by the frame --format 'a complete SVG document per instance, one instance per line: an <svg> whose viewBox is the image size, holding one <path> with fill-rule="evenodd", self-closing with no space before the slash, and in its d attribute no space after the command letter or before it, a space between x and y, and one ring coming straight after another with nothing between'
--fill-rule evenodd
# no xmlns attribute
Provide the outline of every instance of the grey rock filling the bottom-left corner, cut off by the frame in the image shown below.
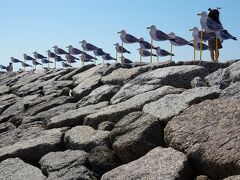
<svg viewBox="0 0 240 180"><path fill-rule="evenodd" d="M10 158L0 163L1 180L46 180L41 170L23 162L19 158Z"/></svg>

